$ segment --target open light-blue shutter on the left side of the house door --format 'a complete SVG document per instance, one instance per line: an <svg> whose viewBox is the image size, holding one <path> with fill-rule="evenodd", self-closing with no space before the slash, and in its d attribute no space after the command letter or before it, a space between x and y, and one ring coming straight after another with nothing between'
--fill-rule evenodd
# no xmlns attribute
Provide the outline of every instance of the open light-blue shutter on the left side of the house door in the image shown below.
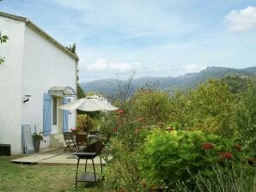
<svg viewBox="0 0 256 192"><path fill-rule="evenodd" d="M50 135L52 129L52 96L44 93L44 113L43 113L44 135Z"/></svg>

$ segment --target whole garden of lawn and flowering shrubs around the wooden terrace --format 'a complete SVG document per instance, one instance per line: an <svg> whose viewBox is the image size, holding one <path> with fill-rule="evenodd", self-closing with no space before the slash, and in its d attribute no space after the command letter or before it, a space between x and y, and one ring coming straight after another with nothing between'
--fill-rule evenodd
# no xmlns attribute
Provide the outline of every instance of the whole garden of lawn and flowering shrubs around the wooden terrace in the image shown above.
<svg viewBox="0 0 256 192"><path fill-rule="evenodd" d="M75 189L76 167L27 170L0 159L0 182L19 191L255 191L255 81L235 85L210 80L176 93L147 86L129 97L129 85L120 87L112 98L119 111L90 116L101 135L111 134L105 155L113 159L105 159L104 181ZM78 129L87 129L82 116Z"/></svg>

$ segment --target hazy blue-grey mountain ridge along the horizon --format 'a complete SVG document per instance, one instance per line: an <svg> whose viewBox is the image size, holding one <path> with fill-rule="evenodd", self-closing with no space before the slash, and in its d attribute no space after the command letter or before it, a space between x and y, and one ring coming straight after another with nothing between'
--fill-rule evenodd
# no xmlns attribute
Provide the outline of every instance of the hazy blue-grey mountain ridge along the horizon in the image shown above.
<svg viewBox="0 0 256 192"><path fill-rule="evenodd" d="M182 90L197 87L199 83L205 82L210 78L221 79L225 75L253 76L256 74L256 67L245 69L232 69L222 67L208 67L198 73L189 73L178 77L141 77L134 79L131 82L131 91L136 91L137 88L145 87L150 84L151 87L156 87L165 90ZM81 83L81 87L85 92L98 92L106 96L111 96L118 93L117 79L103 79ZM125 84L126 81L119 81Z"/></svg>

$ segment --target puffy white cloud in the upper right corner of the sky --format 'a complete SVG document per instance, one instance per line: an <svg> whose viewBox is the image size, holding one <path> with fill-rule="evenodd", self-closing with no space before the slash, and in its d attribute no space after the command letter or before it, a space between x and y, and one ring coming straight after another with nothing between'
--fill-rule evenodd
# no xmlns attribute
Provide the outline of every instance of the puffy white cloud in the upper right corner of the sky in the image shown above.
<svg viewBox="0 0 256 192"><path fill-rule="evenodd" d="M232 10L226 15L225 20L231 32L256 29L256 8L249 6L246 9Z"/></svg>

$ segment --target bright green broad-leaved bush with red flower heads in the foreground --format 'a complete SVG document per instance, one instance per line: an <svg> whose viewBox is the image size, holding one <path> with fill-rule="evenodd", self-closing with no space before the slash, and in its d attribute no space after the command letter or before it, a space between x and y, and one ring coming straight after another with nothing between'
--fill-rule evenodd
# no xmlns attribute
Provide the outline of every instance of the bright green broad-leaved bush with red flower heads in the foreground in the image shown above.
<svg viewBox="0 0 256 192"><path fill-rule="evenodd" d="M150 184L174 189L180 179L194 187L192 176L198 171L210 177L213 165L227 167L244 160L240 149L232 140L201 131L155 129L146 138L139 167Z"/></svg>

